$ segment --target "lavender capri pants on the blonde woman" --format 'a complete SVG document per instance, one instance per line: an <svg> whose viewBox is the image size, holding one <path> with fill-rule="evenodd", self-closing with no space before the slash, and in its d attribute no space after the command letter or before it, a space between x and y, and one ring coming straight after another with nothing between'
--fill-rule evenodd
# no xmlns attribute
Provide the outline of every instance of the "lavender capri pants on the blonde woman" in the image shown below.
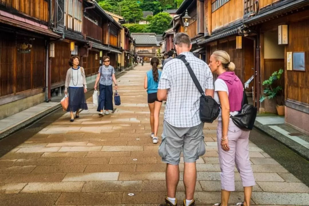
<svg viewBox="0 0 309 206"><path fill-rule="evenodd" d="M240 174L243 187L255 185L249 160L249 133L250 131L243 131L238 128L230 119L227 132L230 150L225 151L221 147L222 121L218 122L217 141L222 190L235 191L234 163Z"/></svg>

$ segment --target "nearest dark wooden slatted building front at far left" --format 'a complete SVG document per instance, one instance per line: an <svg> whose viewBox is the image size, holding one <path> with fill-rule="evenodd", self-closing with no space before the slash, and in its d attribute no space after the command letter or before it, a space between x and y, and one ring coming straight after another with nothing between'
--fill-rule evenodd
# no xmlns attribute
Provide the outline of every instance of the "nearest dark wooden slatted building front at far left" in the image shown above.
<svg viewBox="0 0 309 206"><path fill-rule="evenodd" d="M0 1L0 119L44 101L48 2Z"/></svg>

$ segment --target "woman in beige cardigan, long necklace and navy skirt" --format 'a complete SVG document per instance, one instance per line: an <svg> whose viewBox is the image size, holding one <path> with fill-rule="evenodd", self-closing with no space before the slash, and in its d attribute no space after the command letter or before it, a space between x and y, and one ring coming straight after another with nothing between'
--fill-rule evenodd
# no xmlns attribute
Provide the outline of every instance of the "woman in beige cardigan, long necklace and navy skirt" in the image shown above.
<svg viewBox="0 0 309 206"><path fill-rule="evenodd" d="M87 110L87 102L85 98L85 93L87 92L87 82L85 70L79 65L78 56L73 56L69 60L70 69L66 72L66 82L64 93L67 95L69 93L69 105L66 111L70 112L71 119L74 121L75 118L79 118L80 110Z"/></svg>

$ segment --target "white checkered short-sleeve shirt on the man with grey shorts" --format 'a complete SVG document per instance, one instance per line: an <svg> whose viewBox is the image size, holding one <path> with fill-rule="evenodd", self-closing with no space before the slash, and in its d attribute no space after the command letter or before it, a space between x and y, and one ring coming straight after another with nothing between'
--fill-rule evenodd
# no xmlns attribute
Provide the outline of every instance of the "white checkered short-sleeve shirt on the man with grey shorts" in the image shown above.
<svg viewBox="0 0 309 206"><path fill-rule="evenodd" d="M213 75L208 65L191 52L181 54L186 56L203 90L214 89ZM183 61L173 59L164 65L158 89L169 89L164 111L165 121L180 128L201 124L199 116L201 93Z"/></svg>

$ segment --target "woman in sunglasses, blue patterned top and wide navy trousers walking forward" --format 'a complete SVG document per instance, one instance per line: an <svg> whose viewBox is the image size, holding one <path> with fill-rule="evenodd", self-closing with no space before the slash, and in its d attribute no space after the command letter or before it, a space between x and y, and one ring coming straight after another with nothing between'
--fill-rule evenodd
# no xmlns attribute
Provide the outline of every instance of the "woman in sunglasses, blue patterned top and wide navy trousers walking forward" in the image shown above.
<svg viewBox="0 0 309 206"><path fill-rule="evenodd" d="M108 115L108 110L113 110L113 82L115 83L115 89L118 89L116 77L115 77L115 69L110 64L110 58L108 56L103 57L104 65L100 66L99 74L95 81L95 89L97 88L97 84L99 82L99 105L97 111L99 112L99 116L103 116L105 109L105 114Z"/></svg>

